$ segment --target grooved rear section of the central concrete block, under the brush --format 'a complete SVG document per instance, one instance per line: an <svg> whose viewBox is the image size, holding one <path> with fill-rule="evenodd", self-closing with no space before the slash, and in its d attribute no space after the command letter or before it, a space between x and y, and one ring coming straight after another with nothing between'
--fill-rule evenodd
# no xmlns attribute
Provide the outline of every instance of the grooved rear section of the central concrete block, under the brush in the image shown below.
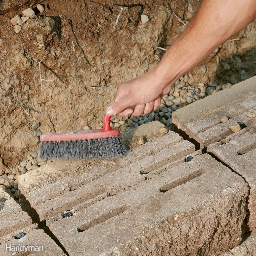
<svg viewBox="0 0 256 256"><path fill-rule="evenodd" d="M19 190L25 198L21 198L20 204L23 208L30 204L42 221L152 178L168 166L184 162L186 155L194 151L192 143L170 131L133 148L123 159L101 161L87 168L83 163L48 164L19 177Z"/></svg>

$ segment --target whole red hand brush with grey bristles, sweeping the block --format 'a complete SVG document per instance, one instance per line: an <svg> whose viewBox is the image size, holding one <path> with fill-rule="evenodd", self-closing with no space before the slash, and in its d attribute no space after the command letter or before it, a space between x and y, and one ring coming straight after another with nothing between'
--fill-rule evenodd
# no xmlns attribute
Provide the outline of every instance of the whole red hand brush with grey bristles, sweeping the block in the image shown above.
<svg viewBox="0 0 256 256"><path fill-rule="evenodd" d="M126 156L128 150L119 137L119 129L110 127L110 118L103 117L103 129L42 134L40 158L59 161Z"/></svg>

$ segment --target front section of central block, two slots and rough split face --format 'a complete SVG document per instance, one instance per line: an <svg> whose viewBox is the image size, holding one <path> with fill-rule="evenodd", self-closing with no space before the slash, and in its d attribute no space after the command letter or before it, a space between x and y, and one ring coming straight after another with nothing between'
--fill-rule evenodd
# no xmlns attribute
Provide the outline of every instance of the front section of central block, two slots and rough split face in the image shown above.
<svg viewBox="0 0 256 256"><path fill-rule="evenodd" d="M203 154L46 225L70 256L218 255L242 239L248 190L242 177Z"/></svg>

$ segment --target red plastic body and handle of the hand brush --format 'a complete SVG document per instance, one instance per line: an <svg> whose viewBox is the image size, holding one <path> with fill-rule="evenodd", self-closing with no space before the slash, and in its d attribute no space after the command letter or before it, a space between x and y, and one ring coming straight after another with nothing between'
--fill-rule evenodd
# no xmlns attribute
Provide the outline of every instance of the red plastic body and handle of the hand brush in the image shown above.
<svg viewBox="0 0 256 256"><path fill-rule="evenodd" d="M90 140L102 139L108 137L118 136L119 129L112 129L110 127L110 119L112 116L105 115L103 117L103 129L76 131L76 132L58 132L42 134L40 141L73 141L73 140Z"/></svg>

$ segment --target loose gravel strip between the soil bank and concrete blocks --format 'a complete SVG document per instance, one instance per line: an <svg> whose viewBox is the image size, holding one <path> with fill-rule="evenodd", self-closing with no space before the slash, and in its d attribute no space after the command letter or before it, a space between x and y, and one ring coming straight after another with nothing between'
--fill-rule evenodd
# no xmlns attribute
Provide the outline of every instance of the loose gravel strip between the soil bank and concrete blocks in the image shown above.
<svg viewBox="0 0 256 256"><path fill-rule="evenodd" d="M201 66L201 68L203 70L204 66ZM198 83L197 86L193 85L193 83L194 78L192 74L187 74L181 77L175 82L175 85L169 94L162 98L161 105L155 112L145 116L131 116L129 118L113 116L110 125L112 127L119 128L121 133L123 133L132 127L138 127L142 124L147 124L155 120L163 123L169 129L171 129L173 111L232 86L231 83L217 84L214 82L209 82L208 84ZM40 124L34 122L33 125L35 126L34 130L36 130ZM100 123L97 129L101 129L102 127L103 123ZM87 126L87 129L91 129L91 127ZM28 170L35 170L49 162L52 161L40 161L37 151L29 151L24 161L12 168L11 173L5 173L4 175L0 176L0 186L11 197L18 200L19 194L17 178L26 173Z"/></svg>

